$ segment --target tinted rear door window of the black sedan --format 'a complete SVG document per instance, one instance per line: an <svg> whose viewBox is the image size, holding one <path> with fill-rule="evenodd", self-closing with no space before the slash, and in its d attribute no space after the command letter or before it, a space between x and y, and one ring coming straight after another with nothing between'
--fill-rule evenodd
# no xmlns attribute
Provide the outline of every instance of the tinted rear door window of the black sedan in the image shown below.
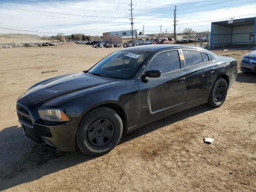
<svg viewBox="0 0 256 192"><path fill-rule="evenodd" d="M182 52L186 61L186 67L197 65L203 62L201 52L199 51L182 50Z"/></svg>

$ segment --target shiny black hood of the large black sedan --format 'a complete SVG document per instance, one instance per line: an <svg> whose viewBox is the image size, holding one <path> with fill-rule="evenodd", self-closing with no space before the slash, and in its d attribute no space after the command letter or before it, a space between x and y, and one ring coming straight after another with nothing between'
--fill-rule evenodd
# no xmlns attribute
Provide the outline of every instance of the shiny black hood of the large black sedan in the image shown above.
<svg viewBox="0 0 256 192"><path fill-rule="evenodd" d="M39 82L35 84L36 86L32 86L32 88L27 90L25 95L35 105L42 105L55 98L113 81L113 79L93 76L84 72L68 74Z"/></svg>

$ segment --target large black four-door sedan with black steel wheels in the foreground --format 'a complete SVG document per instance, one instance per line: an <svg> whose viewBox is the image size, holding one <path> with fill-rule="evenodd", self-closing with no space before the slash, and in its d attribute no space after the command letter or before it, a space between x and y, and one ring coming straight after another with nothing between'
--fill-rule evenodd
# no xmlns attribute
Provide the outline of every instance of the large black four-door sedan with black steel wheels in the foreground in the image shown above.
<svg viewBox="0 0 256 192"><path fill-rule="evenodd" d="M45 148L100 155L123 132L200 104L220 107L236 74L236 60L198 47L124 48L89 70L34 84L17 114L24 135Z"/></svg>

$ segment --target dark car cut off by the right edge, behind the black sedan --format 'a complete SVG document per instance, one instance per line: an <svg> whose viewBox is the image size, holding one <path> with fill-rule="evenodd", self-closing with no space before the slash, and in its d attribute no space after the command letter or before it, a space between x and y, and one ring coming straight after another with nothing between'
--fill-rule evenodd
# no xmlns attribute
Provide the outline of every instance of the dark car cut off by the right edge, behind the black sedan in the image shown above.
<svg viewBox="0 0 256 192"><path fill-rule="evenodd" d="M246 54L241 61L242 72L256 72L256 50Z"/></svg>

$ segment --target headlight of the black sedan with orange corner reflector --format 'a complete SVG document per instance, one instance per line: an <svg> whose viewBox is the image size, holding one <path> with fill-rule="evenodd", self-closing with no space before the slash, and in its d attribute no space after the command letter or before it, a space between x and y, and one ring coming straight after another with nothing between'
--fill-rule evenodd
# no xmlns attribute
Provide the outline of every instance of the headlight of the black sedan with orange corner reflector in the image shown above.
<svg viewBox="0 0 256 192"><path fill-rule="evenodd" d="M68 116L58 109L38 110L39 116L47 121L69 121Z"/></svg>

